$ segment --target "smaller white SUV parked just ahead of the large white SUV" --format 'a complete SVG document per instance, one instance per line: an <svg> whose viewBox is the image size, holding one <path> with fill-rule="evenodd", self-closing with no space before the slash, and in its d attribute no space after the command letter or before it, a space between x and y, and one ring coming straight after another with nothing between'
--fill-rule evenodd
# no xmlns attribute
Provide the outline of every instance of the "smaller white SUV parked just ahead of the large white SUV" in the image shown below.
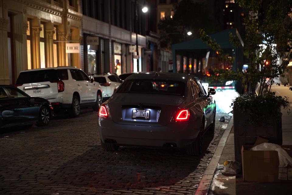
<svg viewBox="0 0 292 195"><path fill-rule="evenodd" d="M122 80L114 74L93 75L96 82L99 82L101 89L103 90L103 101L110 98L113 92L120 86Z"/></svg>

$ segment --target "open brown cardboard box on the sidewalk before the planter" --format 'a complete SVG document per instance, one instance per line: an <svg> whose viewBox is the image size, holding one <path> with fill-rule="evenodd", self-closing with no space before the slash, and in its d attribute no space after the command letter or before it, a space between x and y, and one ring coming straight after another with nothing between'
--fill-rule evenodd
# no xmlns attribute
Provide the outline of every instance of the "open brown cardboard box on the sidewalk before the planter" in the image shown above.
<svg viewBox="0 0 292 195"><path fill-rule="evenodd" d="M279 169L277 151L252 151L250 150L252 147L243 145L241 150L242 173L245 182L292 182L292 168L289 166ZM285 150L292 157L292 145L281 147L287 148Z"/></svg>

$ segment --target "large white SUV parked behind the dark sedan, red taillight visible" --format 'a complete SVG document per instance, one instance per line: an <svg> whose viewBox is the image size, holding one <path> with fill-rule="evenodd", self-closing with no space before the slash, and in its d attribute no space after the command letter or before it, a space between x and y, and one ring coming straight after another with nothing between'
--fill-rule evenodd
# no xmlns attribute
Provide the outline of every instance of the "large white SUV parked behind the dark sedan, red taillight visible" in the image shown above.
<svg viewBox="0 0 292 195"><path fill-rule="evenodd" d="M102 90L85 72L76 67L40 68L21 71L16 86L32 97L49 100L54 112L60 109L78 117L81 107L92 106L98 111L102 103Z"/></svg>

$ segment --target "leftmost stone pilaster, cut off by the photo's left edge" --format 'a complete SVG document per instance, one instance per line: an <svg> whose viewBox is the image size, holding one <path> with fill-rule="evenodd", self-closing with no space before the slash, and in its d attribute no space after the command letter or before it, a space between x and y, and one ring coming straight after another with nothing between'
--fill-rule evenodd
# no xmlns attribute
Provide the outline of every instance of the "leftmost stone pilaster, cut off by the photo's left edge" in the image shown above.
<svg viewBox="0 0 292 195"><path fill-rule="evenodd" d="M7 26L8 19L0 18L0 84L9 85L9 67L8 67L8 42Z"/></svg>

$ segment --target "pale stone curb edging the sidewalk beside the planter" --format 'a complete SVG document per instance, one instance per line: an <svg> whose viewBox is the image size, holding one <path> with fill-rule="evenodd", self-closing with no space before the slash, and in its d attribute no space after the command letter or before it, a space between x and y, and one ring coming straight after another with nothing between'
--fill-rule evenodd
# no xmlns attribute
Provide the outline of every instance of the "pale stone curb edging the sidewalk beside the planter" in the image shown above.
<svg viewBox="0 0 292 195"><path fill-rule="evenodd" d="M228 126L227 126L224 134L222 135L222 137L217 145L217 148L214 152L214 155L213 155L211 161L209 162L209 165L207 166L207 169L205 170L205 172L202 176L202 179L199 183L199 186L196 190L195 195L206 195L207 194L207 192L209 190L210 183L211 183L213 176L214 176L214 172L216 170L217 164L220 160L222 151L225 147L225 143L227 141L227 138L229 136L229 133L230 133L232 127L233 127L233 116L231 117L231 119L228 123Z"/></svg>

